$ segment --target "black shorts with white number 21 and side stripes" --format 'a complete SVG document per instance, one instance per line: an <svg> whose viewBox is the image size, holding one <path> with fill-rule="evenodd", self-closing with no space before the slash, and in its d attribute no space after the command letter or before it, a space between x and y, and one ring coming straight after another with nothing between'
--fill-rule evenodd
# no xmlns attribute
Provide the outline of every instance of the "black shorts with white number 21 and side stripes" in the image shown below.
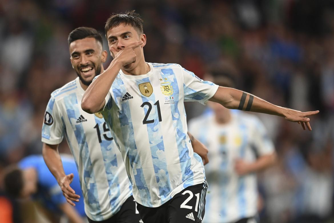
<svg viewBox="0 0 334 223"><path fill-rule="evenodd" d="M137 209L144 223L202 222L207 188L204 181L185 188L160 207L149 208L137 203Z"/></svg>

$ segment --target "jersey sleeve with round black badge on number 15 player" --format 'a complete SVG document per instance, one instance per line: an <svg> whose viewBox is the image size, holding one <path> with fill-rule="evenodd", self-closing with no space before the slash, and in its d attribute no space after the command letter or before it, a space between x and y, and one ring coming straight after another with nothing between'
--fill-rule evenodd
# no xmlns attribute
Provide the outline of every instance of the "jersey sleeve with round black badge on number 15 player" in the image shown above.
<svg viewBox="0 0 334 223"><path fill-rule="evenodd" d="M58 105L54 97L51 96L44 114L42 142L51 145L59 144L63 139L64 128Z"/></svg>

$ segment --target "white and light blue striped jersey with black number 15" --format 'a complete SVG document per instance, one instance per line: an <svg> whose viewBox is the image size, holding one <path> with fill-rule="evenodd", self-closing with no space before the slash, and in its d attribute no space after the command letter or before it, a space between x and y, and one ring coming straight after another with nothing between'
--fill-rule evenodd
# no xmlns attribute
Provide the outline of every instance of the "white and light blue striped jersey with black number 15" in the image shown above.
<svg viewBox="0 0 334 223"><path fill-rule="evenodd" d="M132 186L101 113L81 109L83 93L79 78L52 92L42 142L59 144L66 136L78 169L85 212L90 219L102 221L120 210L132 195Z"/></svg>

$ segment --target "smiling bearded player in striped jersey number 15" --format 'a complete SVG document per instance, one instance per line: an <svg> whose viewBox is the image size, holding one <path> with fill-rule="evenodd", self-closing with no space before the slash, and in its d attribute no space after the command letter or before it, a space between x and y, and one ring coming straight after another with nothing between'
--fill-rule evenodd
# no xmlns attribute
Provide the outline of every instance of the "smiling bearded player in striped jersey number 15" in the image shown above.
<svg viewBox="0 0 334 223"><path fill-rule="evenodd" d="M83 93L104 71L107 51L102 49L102 36L93 28L79 27L69 34L68 44L78 77L51 94L42 127L45 163L67 202L78 202L79 191L69 185L73 174L64 173L57 149L65 134L78 169L89 222L140 222L121 153L105 120L101 113L88 114L80 107Z"/></svg>

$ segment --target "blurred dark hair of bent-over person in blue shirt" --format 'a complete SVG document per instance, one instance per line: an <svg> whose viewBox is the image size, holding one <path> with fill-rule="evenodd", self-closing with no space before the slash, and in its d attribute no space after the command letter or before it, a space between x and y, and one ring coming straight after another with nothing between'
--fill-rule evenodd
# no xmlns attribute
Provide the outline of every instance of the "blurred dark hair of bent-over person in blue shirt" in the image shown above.
<svg viewBox="0 0 334 223"><path fill-rule="evenodd" d="M15 198L20 197L24 182L23 172L17 166L11 166L4 171L4 190L8 195Z"/></svg>

